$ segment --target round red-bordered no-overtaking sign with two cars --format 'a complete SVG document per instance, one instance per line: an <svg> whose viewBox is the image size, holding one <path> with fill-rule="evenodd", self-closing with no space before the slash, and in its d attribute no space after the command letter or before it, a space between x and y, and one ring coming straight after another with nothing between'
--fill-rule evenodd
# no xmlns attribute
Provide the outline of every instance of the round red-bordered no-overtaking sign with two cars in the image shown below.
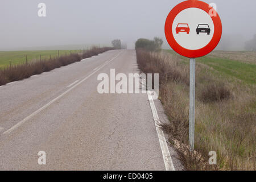
<svg viewBox="0 0 256 182"><path fill-rule="evenodd" d="M210 12L214 13L210 14ZM218 45L222 34L220 16L207 3L188 0L168 14L164 28L172 49L185 57L207 55Z"/></svg>

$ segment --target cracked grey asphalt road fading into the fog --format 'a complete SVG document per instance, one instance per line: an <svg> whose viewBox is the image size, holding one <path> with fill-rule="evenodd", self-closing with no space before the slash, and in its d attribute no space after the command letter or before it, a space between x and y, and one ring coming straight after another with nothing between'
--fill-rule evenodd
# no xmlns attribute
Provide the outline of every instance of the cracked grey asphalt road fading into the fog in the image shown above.
<svg viewBox="0 0 256 182"><path fill-rule="evenodd" d="M167 121L159 100L97 92L97 76L112 68L139 72L135 51L108 51L0 86L0 170L181 169L155 126L154 118Z"/></svg>

